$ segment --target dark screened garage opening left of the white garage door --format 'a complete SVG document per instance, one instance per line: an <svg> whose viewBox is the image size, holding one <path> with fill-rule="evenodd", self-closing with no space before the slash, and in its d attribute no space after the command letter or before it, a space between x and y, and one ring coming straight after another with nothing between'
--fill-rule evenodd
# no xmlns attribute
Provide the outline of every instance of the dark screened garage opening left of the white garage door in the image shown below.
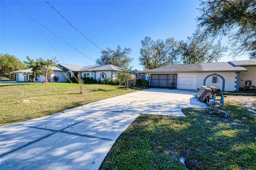
<svg viewBox="0 0 256 170"><path fill-rule="evenodd" d="M151 74L150 86L176 89L177 74Z"/></svg>

